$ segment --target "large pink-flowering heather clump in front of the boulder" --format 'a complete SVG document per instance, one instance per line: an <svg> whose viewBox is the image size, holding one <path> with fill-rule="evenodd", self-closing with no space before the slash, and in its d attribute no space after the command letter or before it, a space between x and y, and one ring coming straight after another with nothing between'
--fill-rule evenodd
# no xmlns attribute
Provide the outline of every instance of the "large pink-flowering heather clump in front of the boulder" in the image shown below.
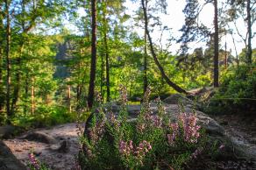
<svg viewBox="0 0 256 170"><path fill-rule="evenodd" d="M206 139L195 113L170 117L159 98L153 101L155 113L147 89L138 117L129 119L124 87L120 94L118 114L99 104L89 135L80 133L82 169L182 169L205 152Z"/></svg>

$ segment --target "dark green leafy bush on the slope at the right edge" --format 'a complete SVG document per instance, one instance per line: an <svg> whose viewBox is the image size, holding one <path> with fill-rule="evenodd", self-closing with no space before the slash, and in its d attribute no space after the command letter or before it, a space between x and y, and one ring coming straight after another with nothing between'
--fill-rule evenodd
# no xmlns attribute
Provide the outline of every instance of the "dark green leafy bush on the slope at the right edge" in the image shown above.
<svg viewBox="0 0 256 170"><path fill-rule="evenodd" d="M210 112L253 111L256 103L256 70L252 66L231 68L224 74L220 88L210 99Z"/></svg>

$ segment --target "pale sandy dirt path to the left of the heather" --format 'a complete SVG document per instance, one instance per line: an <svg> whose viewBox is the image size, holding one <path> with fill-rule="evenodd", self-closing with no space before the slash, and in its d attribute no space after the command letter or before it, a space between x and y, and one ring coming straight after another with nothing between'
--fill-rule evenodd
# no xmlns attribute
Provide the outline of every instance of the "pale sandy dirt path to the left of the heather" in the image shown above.
<svg viewBox="0 0 256 170"><path fill-rule="evenodd" d="M28 162L28 153L33 151L41 162L56 170L71 170L75 168L75 155L77 155L80 145L77 139L76 124L61 124L50 129L37 129L35 131L44 132L61 141L67 141L68 152L59 152L54 148L58 145L49 145L45 143L28 141L26 139L8 139L4 143L8 145L11 152L26 164ZM26 132L28 133L28 132Z"/></svg>

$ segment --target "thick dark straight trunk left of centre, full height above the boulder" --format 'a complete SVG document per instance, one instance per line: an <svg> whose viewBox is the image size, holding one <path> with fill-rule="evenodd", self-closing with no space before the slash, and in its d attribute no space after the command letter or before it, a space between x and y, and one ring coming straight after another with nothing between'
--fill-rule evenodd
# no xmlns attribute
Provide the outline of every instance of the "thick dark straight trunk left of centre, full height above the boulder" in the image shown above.
<svg viewBox="0 0 256 170"><path fill-rule="evenodd" d="M89 75L88 107L93 106L96 79L96 0L91 0L91 61Z"/></svg>

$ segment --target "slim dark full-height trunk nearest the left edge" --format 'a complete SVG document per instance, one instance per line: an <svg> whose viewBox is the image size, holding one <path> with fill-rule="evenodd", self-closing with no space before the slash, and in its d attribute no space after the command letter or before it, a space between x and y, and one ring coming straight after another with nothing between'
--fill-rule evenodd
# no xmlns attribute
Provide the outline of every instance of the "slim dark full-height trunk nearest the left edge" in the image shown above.
<svg viewBox="0 0 256 170"><path fill-rule="evenodd" d="M10 51L11 51L11 19L9 13L10 1L5 0L5 14L6 14L6 112L7 112L7 124L11 124L11 60L10 60Z"/></svg>

